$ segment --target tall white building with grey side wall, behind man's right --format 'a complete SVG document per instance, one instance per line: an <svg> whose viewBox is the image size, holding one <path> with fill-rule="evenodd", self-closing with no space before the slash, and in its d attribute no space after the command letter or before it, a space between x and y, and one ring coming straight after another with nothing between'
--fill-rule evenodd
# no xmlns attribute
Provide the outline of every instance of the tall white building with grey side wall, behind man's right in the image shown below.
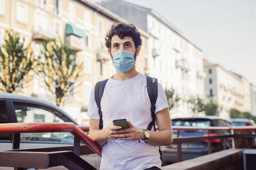
<svg viewBox="0 0 256 170"><path fill-rule="evenodd" d="M172 117L192 116L187 100L204 98L202 50L154 10L119 0L102 1L101 5L151 35L149 75L164 88L175 89L182 98L178 107L171 110Z"/></svg>

